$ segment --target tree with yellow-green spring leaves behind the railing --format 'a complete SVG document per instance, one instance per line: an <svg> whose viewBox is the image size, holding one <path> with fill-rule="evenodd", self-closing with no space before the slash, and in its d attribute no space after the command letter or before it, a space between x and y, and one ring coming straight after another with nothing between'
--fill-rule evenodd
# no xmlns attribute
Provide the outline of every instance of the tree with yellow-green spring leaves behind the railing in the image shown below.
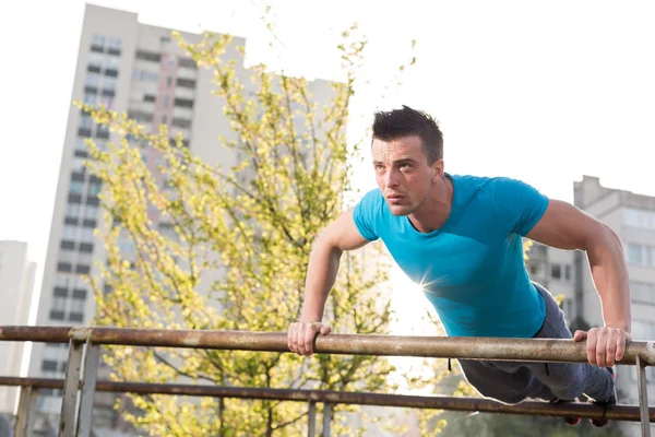
<svg viewBox="0 0 655 437"><path fill-rule="evenodd" d="M238 162L212 166L194 156L167 126L158 132L105 107L80 105L121 140L93 142L90 168L104 186L100 202L106 264L91 279L100 326L286 331L302 305L306 265L318 233L346 206L358 144L346 142L348 104L366 40L344 32L345 81L329 103L312 99L302 78L251 69L226 35L200 44L174 35L201 68L212 69L217 98L234 135L219 146ZM238 50L242 54L243 48ZM413 63L414 60L410 61ZM402 66L404 68L404 66ZM253 94L249 95L248 90ZM144 162L160 161L158 168ZM341 332L385 333L392 317L385 293L389 259L380 244L345 255L326 320ZM394 370L377 356L110 347L116 380L239 387L392 391ZM293 402L131 395L140 414L126 418L151 435L298 435L307 405ZM353 411L341 405L336 411ZM345 430L343 415L335 430Z"/></svg>

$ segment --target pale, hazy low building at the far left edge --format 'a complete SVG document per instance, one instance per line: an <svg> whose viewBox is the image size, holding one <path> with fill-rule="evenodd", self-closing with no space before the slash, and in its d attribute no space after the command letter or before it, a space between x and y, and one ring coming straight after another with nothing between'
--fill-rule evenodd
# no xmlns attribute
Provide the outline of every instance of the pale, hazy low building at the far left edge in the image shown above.
<svg viewBox="0 0 655 437"><path fill-rule="evenodd" d="M27 244L0 241L0 326L28 324L34 297L36 263L27 257ZM25 343L0 342L0 375L20 376ZM17 389L0 386L0 413L13 414Z"/></svg>

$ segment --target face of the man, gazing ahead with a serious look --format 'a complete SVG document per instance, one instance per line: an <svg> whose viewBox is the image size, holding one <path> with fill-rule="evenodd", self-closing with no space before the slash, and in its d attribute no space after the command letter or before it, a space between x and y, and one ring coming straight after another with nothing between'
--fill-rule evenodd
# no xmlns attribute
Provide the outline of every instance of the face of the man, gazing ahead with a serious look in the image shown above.
<svg viewBox="0 0 655 437"><path fill-rule="evenodd" d="M436 166L428 165L420 138L405 137L392 141L374 139L373 168L380 191L393 215L408 215L428 198Z"/></svg>

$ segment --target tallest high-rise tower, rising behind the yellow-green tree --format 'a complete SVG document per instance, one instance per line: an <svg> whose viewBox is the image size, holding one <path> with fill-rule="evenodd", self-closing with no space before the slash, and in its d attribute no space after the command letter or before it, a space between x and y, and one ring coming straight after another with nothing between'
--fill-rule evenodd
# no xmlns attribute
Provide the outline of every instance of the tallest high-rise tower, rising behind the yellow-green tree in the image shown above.
<svg viewBox="0 0 655 437"><path fill-rule="evenodd" d="M199 34L181 33L189 43L202 40ZM224 58L236 61L236 76L252 96L251 72L238 50L245 39L234 37ZM223 115L224 102L212 94L213 71L195 62L171 38L171 29L140 23L135 13L87 4L81 34L72 101L106 105L127 113L141 125L157 132L168 125L171 135L179 132L193 155L211 165L236 164L238 156L222 147L219 137L236 140L230 121ZM309 84L312 99L327 103L331 83ZM71 105L57 186L55 211L44 268L37 324L87 324L95 315L95 302L82 275L95 275L96 261L105 260L104 247L94 236L99 227L98 193L102 182L85 168L86 139L103 149L117 133L96 126L92 118ZM159 164L155 150L143 149L151 169ZM156 223L156 217L154 222ZM29 375L62 378L68 345L35 344ZM107 374L103 366L98 378ZM39 392L40 416L56 424L61 409L61 392ZM127 428L112 411L114 397L96 393L94 423L107 428ZM48 426L48 425L45 425Z"/></svg>

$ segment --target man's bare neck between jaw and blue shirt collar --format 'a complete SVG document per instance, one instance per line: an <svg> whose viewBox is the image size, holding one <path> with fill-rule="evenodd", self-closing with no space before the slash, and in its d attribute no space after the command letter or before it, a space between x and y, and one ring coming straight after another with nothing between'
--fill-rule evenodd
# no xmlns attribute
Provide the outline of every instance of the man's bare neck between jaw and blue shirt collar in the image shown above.
<svg viewBox="0 0 655 437"><path fill-rule="evenodd" d="M429 233L439 229L448 221L453 205L454 187L450 177L443 176L430 194L408 218L416 231Z"/></svg>

